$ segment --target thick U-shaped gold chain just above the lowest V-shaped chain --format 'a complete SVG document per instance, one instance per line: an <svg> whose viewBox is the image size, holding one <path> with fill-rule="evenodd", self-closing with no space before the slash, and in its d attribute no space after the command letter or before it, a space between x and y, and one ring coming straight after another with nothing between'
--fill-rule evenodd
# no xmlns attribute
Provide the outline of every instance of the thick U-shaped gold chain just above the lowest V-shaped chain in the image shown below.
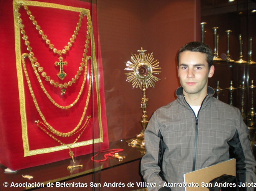
<svg viewBox="0 0 256 191"><path fill-rule="evenodd" d="M25 54L22 54L22 55L27 55L27 53ZM24 57L23 57L24 58ZM22 59L23 59L22 58ZM88 87L88 95L87 95L87 99L86 99L86 104L85 104L85 107L84 107L84 111L83 111L83 114L81 116L81 119L78 123L78 125L72 130L72 131L69 131L68 133L61 133L60 131L57 131L56 129L54 129L49 123L47 123L43 113L41 112L39 106L38 106L38 103L36 101L36 97L35 97L35 94L33 92L33 89L32 89L32 86L31 86L31 83L30 83L30 79L29 79L29 76L28 76L28 72L26 71L26 67L24 66L25 65L25 62L22 62L23 63L23 70L24 70L24 73L25 73L25 77L26 77L26 81L27 81L27 84L28 84L28 89L30 91L30 94L31 94L31 97L33 99L33 102L35 104L35 107L36 107L36 110L38 111L41 119L43 120L43 122L45 123L45 125L49 128L49 130L56 134L57 136L61 136L61 137L69 137L71 136L72 134L74 134L74 132L79 128L79 126L82 124L82 121L84 119L84 116L86 114L86 110L88 108L88 104L89 104L89 98L90 98L90 95L91 95L91 84L92 84L92 67L91 67L91 76L90 76L90 82L89 82L89 87Z"/></svg>

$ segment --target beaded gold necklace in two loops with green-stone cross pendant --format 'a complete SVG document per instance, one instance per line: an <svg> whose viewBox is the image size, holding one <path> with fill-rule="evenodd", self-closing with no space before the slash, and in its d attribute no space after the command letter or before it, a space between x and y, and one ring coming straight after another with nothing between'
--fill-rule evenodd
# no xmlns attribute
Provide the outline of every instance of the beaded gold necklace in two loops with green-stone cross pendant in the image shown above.
<svg viewBox="0 0 256 191"><path fill-rule="evenodd" d="M52 80L50 78L50 76L47 76L47 74L43 71L43 67L40 66L40 64L38 62L36 62L36 58L33 57L33 61L36 62L36 67L38 67L38 72L41 72L41 76L43 76L46 81L50 81L50 84L51 85L54 85L55 87L59 87L61 88L61 94L65 94L65 88L67 88L68 86L71 86L73 83L76 82L76 79L79 78L79 75L81 74L81 71L83 71L83 66L84 66L84 63L86 62L86 57L87 57L87 53L88 53L88 47L89 47L89 39L91 38L90 34L91 34L91 16L89 15L89 13L85 12L85 13L80 13L79 15L79 23L78 26L76 27L76 30L74 31L74 34L72 35L72 38L70 38L70 42L68 42L68 45L66 45L64 47L63 50L57 50L56 48L54 48L54 45L51 44L50 40L47 39L47 36L43 33L43 31L41 30L41 27L37 24L37 21L35 20L35 17L33 15L31 15L31 11L28 10L28 6L26 5L23 5L23 4L20 4L18 6L18 10L20 8L20 6L23 6L23 8L26 10L26 13L30 16L30 20L32 21L32 23L36 26L36 29L38 30L39 34L42 36L42 39L45 40L45 43L47 45L49 45L49 48L51 50L53 50L54 53L57 53L60 57L59 57L59 62L55 62L55 65L59 65L60 66L60 71L59 73L57 74L57 76L59 78L61 78L61 80L64 79L64 77L66 77L66 73L64 73L63 71L63 65L66 65L67 62L63 62L63 58L61 57L62 54L66 54L66 51L69 50L69 47L72 46L72 43L74 42L74 39L76 39L76 35L78 34L78 31L79 31L79 28L81 26L81 19L83 18L83 15L86 15L87 17L87 29L88 31L86 32L86 44L84 45L85 49L84 49L84 53L83 53L83 58L82 58L82 62L80 63L80 67L77 71L77 74L74 76L74 78L71 79L71 81L68 81L68 83L58 83L58 82L55 82L54 80ZM22 19L20 18L20 13L18 12L17 9L14 10L14 12L16 13L16 16L18 18L18 23L19 23L19 27L20 27L20 32L21 34L23 34L23 37L22 39L25 41L25 45L27 46L27 50L30 52L30 55L33 55L33 52L32 51L32 47L30 46L30 42L28 41L28 36L26 35L26 31L24 30L24 24L22 24Z"/></svg>

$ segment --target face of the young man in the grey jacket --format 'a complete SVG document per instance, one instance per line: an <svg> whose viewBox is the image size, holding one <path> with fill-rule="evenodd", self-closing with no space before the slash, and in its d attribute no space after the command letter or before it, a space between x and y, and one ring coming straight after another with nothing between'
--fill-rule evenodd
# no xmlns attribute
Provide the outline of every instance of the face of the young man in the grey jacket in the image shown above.
<svg viewBox="0 0 256 191"><path fill-rule="evenodd" d="M180 54L178 76L184 95L207 94L208 78L211 78L213 73L214 66L211 66L209 71L205 53L184 51Z"/></svg>

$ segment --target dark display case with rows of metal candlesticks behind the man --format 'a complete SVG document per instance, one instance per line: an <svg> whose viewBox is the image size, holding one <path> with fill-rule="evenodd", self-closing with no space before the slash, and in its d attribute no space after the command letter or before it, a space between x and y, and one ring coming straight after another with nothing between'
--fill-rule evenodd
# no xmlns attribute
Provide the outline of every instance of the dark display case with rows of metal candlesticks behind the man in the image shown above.
<svg viewBox="0 0 256 191"><path fill-rule="evenodd" d="M218 90L218 99L240 109L256 155L256 2L202 1L201 22L205 43L218 53L209 85Z"/></svg>

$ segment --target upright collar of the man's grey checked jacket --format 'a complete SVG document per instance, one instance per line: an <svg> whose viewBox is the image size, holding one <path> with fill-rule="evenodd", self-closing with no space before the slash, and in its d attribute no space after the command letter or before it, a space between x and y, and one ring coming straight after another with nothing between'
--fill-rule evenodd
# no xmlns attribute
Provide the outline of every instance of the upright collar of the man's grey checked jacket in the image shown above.
<svg viewBox="0 0 256 191"><path fill-rule="evenodd" d="M214 93L215 93L214 89L212 87L208 86L207 87L207 95L206 95L206 98L203 101L202 106L208 105L208 102L210 102L210 100L213 98ZM178 87L178 89L176 90L176 95L177 95L178 102L181 105L188 106L188 103L185 100L185 96L183 95L183 88L181 86Z"/></svg>

